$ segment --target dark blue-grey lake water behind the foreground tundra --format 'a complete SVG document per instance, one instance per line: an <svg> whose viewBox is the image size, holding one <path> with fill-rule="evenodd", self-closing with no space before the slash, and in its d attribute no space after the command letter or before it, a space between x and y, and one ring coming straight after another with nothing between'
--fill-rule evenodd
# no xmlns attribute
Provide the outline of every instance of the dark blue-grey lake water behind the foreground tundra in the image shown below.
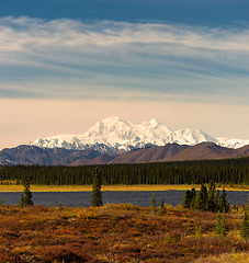
<svg viewBox="0 0 249 263"><path fill-rule="evenodd" d="M166 204L177 206L181 204L185 191L118 191L102 192L103 204L132 203L137 206L150 206L151 195L155 195L156 205L159 206L163 197ZM245 205L248 202L249 191L226 191L230 205ZM22 193L0 193L3 205L18 204ZM58 206L90 206L91 192L34 192L33 202L36 205ZM222 194L222 192L219 192Z"/></svg>

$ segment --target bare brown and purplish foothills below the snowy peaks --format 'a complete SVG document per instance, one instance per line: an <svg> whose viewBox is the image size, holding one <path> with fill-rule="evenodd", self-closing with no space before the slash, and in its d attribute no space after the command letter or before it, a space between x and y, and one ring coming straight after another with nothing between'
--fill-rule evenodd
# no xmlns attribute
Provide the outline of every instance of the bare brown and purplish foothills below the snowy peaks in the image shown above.
<svg viewBox="0 0 249 263"><path fill-rule="evenodd" d="M201 142L195 146L168 144L165 146L134 149L114 156L101 153L94 147L86 150L68 150L64 148L49 149L23 145L0 151L0 164L89 165L224 159L247 156L249 156L249 145L233 149L220 147L214 142Z"/></svg>

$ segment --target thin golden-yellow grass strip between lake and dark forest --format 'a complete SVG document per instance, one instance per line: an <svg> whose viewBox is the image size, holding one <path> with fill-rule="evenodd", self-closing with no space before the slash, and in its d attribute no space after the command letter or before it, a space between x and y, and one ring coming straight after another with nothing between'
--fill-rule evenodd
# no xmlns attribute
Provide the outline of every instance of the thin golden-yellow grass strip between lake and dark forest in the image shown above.
<svg viewBox="0 0 249 263"><path fill-rule="evenodd" d="M102 191L169 191L169 190L200 190L201 185L168 184L168 185L102 185ZM223 186L216 187L223 190ZM249 186L225 186L226 191L249 191ZM32 192L91 192L92 185L31 185ZM23 192L22 185L0 185L0 192Z"/></svg>

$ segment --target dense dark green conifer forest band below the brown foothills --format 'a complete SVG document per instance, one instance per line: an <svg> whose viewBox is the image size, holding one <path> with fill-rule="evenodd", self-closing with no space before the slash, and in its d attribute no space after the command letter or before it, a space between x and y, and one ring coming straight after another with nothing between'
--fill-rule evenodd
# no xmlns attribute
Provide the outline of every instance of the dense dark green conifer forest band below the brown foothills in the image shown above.
<svg viewBox="0 0 249 263"><path fill-rule="evenodd" d="M2 184L86 185L92 184L97 165L0 167ZM249 185L249 158L182 162L98 165L103 185L113 184L220 184Z"/></svg>

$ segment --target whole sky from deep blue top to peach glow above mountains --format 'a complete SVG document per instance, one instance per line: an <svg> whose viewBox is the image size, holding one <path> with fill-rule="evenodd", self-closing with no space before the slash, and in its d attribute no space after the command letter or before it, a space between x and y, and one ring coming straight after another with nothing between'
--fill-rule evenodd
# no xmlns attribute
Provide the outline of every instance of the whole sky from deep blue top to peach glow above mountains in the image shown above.
<svg viewBox="0 0 249 263"><path fill-rule="evenodd" d="M249 139L248 43L246 0L2 0L0 148L110 115Z"/></svg>

